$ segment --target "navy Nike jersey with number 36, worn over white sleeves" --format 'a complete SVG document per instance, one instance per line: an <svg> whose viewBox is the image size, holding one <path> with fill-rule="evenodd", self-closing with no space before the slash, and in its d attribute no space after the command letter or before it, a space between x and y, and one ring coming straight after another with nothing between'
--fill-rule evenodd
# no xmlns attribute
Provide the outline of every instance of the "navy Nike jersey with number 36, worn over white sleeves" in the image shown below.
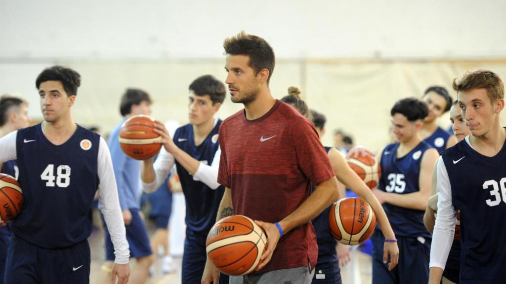
<svg viewBox="0 0 506 284"><path fill-rule="evenodd" d="M504 283L506 279L506 144L494 157L466 140L441 154L460 210L460 282Z"/></svg>

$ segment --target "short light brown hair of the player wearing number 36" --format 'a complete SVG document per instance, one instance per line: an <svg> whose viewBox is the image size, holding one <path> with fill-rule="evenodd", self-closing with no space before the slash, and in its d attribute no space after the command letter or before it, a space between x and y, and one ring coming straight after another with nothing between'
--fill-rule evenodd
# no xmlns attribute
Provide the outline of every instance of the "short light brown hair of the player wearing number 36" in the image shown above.
<svg viewBox="0 0 506 284"><path fill-rule="evenodd" d="M487 90L487 96L492 103L504 99L504 83L499 75L490 70L479 69L467 72L458 82L457 79L453 80L453 89L457 92L480 88Z"/></svg>

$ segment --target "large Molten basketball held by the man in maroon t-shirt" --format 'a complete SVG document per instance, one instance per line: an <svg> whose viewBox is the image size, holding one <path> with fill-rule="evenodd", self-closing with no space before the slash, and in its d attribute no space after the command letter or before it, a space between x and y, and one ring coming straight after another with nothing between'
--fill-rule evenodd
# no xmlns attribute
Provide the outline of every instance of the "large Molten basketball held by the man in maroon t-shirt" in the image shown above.
<svg viewBox="0 0 506 284"><path fill-rule="evenodd" d="M254 271L266 244L265 231L242 215L218 221L209 231L205 242L209 260L228 275L244 275Z"/></svg>

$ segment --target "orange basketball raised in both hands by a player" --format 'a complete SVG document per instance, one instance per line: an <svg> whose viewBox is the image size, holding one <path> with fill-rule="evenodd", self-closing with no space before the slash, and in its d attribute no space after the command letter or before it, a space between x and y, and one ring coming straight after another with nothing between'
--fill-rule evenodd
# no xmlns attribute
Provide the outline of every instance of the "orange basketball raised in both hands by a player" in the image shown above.
<svg viewBox="0 0 506 284"><path fill-rule="evenodd" d="M119 130L119 145L123 152L136 160L151 158L160 151L161 144L155 144L161 137L154 132L154 119L136 115L127 119Z"/></svg>

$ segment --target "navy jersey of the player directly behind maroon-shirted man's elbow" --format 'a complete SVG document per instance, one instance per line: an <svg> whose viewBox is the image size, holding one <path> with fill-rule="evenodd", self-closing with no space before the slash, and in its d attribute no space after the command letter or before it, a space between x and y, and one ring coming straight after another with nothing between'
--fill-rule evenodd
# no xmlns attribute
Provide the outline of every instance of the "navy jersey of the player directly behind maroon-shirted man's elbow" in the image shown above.
<svg viewBox="0 0 506 284"><path fill-rule="evenodd" d="M330 151L331 147L325 147L325 150ZM313 191L315 190L315 186L313 185ZM338 254L335 251L335 246L338 245L338 241L336 241L332 234L330 233L330 226L328 220L328 213L330 212L330 205L325 210L323 210L318 216L316 216L311 222L313 223L313 227L316 232L316 241L318 243L318 262L321 256L324 255L335 255Z"/></svg>

